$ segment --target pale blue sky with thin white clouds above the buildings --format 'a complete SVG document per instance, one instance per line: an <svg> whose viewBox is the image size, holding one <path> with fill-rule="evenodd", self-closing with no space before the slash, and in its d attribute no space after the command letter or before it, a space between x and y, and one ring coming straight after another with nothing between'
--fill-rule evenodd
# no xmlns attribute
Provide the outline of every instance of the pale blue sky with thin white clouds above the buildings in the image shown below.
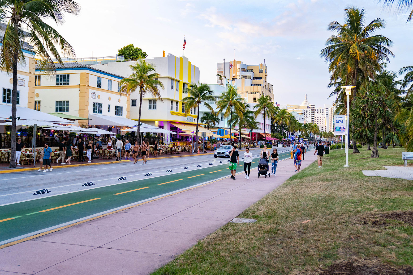
<svg viewBox="0 0 413 275"><path fill-rule="evenodd" d="M66 16L57 30L76 57L114 56L133 44L148 57L162 51L183 54L199 67L200 82L216 83L216 63L240 60L268 66L275 101L300 104L307 94L316 106L331 105L328 65L319 56L330 21L342 23L343 9L364 8L366 23L380 17L386 28L376 34L394 42L387 69L413 66L413 24L406 14L383 9L378 0L78 0L81 14Z"/></svg>

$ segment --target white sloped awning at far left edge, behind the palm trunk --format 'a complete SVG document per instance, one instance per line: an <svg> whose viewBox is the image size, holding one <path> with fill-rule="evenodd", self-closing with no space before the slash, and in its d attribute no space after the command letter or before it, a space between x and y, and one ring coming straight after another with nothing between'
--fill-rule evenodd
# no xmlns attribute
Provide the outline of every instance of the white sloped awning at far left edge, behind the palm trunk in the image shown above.
<svg viewBox="0 0 413 275"><path fill-rule="evenodd" d="M36 111L27 107L16 106L16 116L20 117L21 120L40 120L49 121L54 123L72 123L70 120L64 118L59 118L55 115L49 115L48 113L43 113ZM0 120L11 120L9 117L12 115L12 106L0 104Z"/></svg>

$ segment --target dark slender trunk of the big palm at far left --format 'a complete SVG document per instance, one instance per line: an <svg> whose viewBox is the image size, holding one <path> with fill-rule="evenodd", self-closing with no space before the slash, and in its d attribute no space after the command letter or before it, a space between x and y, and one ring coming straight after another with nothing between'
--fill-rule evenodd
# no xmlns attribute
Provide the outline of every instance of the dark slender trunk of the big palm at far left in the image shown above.
<svg viewBox="0 0 413 275"><path fill-rule="evenodd" d="M18 25L14 24L16 29ZM10 129L11 140L10 147L12 152L10 153L10 168L16 168L16 116L17 116L17 61L18 53L15 52L13 56L13 89L12 89L12 128Z"/></svg>

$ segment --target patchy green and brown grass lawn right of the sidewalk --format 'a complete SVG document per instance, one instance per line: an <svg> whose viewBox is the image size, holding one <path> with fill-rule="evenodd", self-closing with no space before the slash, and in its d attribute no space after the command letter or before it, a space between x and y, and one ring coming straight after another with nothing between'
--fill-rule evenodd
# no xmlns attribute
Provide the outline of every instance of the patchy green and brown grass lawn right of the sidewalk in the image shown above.
<svg viewBox="0 0 413 275"><path fill-rule="evenodd" d="M359 150L346 169L344 149L330 150L323 168L313 162L240 215L256 223L228 223L153 274L317 274L349 259L413 266L413 223L392 219L413 216L404 213L413 181L361 172L402 165L404 148L379 148L377 159Z"/></svg>

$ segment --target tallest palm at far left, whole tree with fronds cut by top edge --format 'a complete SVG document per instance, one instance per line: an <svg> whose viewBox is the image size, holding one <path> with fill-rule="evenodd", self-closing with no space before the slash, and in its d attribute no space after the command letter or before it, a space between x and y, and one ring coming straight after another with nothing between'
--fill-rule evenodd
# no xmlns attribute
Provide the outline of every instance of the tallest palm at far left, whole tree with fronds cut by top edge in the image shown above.
<svg viewBox="0 0 413 275"><path fill-rule="evenodd" d="M23 53L24 39L36 52L41 71L55 72L52 56L63 65L59 52L74 56L74 49L60 33L44 20L64 23L64 13L78 15L80 6L72 0L0 0L0 23L5 24L0 68L13 75L12 80L12 127L10 167L16 167L16 113L17 113L17 64L26 63Z"/></svg>

